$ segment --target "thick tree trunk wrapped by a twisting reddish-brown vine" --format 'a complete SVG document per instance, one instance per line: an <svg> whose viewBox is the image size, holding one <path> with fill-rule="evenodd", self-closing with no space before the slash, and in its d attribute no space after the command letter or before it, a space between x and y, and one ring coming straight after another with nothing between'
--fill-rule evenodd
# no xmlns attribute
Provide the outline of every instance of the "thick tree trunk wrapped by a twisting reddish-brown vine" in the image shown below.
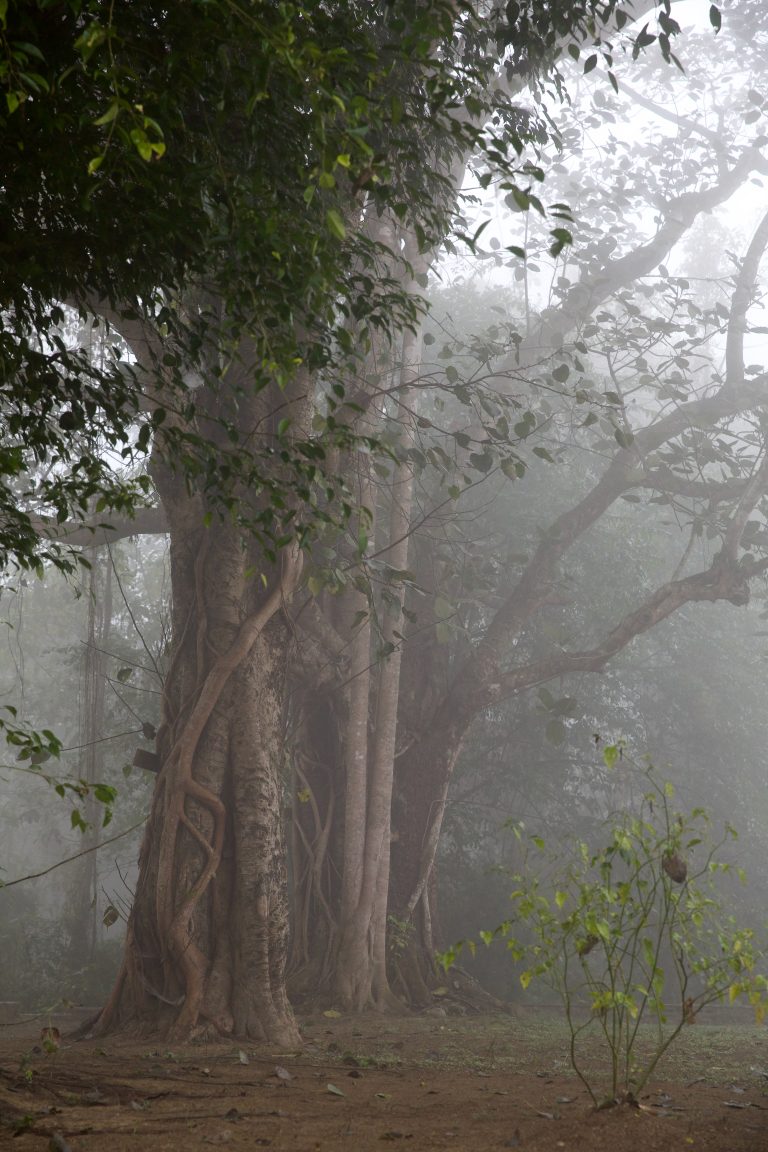
<svg viewBox="0 0 768 1152"><path fill-rule="evenodd" d="M161 477L161 480L164 478ZM139 858L123 968L97 1032L204 1030L291 1046L284 990L282 605L301 571L263 564L236 529L201 528L165 477L173 644L158 734L161 770Z"/></svg>

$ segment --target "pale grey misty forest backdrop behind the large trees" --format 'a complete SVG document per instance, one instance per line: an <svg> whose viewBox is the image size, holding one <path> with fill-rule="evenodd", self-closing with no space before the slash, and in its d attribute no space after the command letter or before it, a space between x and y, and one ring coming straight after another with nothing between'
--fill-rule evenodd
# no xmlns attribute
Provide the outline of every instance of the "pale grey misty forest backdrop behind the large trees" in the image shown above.
<svg viewBox="0 0 768 1152"><path fill-rule="evenodd" d="M434 679L418 685L423 706L439 698L505 584L596 483L616 445L722 379L739 270L766 211L763 23L746 24L736 8L717 40L701 26L685 31L683 71L656 59L617 61L615 92L602 63L585 76L581 61L567 75L564 104L542 88L530 108L520 105L522 118L545 109L558 131L558 145L537 161L543 183L532 180L546 205L573 213L573 244L556 258L552 218L484 185L481 173L471 176L470 242L449 244L424 288L421 402L408 430L419 528L403 644L438 652ZM713 188L717 195L697 200ZM649 271L638 260L632 275L632 259L659 237L659 259ZM768 366L765 276L759 285L745 336L753 377ZM604 293L596 310L595 293ZM532 353L532 334L563 314L576 342L564 350L552 340L541 351L540 341ZM532 423L522 416L518 427L518 412L533 412ZM514 641L516 661L588 650L663 582L706 568L722 529L712 485L748 472L763 433L759 415L742 412L657 453L655 484L626 492L571 548L556 592ZM509 437L514 450L501 452ZM767 543L758 507L745 545L760 558ZM84 779L117 789L102 827L92 801L46 783L44 761L6 755L0 1000L25 1011L66 1000L98 1005L108 994L154 785L140 757L134 761L153 746L168 670L166 541L137 536L84 555L90 567L77 577L10 571L0 590L0 704L60 737L56 772L75 786ZM436 867L441 942L504 918L508 872L518 862L510 824L524 821L553 843L590 839L637 798L646 757L675 785L680 806L704 806L715 827L738 831L729 858L752 882L733 887L735 909L762 929L767 619L765 579L755 581L748 604L685 604L602 670L567 672L484 708L447 801ZM290 832L303 803L290 702L284 723ZM609 743L623 749L614 768L601 757ZM85 831L73 824L73 803ZM502 948L464 962L495 994L522 994Z"/></svg>

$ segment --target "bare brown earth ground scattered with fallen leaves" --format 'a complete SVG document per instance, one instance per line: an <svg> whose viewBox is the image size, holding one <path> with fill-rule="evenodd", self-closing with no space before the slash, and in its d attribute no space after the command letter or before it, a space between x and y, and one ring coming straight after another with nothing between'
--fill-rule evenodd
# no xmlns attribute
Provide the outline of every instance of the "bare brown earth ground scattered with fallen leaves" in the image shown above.
<svg viewBox="0 0 768 1152"><path fill-rule="evenodd" d="M639 1107L600 1112L550 1011L315 1015L295 1053L66 1037L46 1052L35 1028L0 1028L0 1146L17 1152L768 1152L755 1025L686 1028ZM596 1044L586 1066L604 1071Z"/></svg>

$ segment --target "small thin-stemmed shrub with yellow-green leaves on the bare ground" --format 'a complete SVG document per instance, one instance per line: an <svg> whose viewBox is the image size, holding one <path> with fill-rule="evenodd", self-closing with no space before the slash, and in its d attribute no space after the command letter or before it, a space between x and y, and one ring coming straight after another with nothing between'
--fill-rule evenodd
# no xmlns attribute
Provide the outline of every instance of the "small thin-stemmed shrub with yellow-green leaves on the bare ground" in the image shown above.
<svg viewBox="0 0 768 1152"><path fill-rule="evenodd" d="M727 826L713 840L704 809L672 811L671 785L659 783L651 768L645 776L639 811L607 820L596 850L575 841L553 854L516 827L526 858L515 877L514 916L480 933L485 943L505 938L525 965L524 988L543 980L556 991L571 1064L596 1107L633 1101L683 1028L713 1001L746 998L763 1015L766 979L756 972L753 933L725 914L717 888L731 871L743 879L721 858L736 833ZM440 957L446 967L459 947ZM644 1024L652 1025L649 1044ZM585 1040L595 1036L609 1058L606 1091L585 1062Z"/></svg>

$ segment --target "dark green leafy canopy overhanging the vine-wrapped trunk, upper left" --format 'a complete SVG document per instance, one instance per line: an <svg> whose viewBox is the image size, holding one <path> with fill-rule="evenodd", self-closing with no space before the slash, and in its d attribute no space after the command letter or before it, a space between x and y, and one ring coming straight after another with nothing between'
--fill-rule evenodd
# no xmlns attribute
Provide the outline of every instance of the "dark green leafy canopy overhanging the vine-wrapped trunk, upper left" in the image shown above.
<svg viewBox="0 0 768 1152"><path fill-rule="evenodd" d="M343 505L325 460L349 442L344 374L419 309L398 242L371 238L363 205L427 250L454 228L451 173L473 154L484 187L501 180L541 210L542 173L517 158L549 129L515 86L552 73L569 43L609 60L625 23L614 0L482 17L443 0L0 6L0 562L68 562L39 544L40 516L139 506L161 425L188 483L230 511L238 486L259 493L251 526L273 545ZM131 355L94 363L62 332L64 303L123 335L149 325L151 415ZM225 365L243 338L235 386ZM313 438L287 435L289 416L244 446L223 403L191 431L201 382L231 396L283 387L299 366L326 376Z"/></svg>

